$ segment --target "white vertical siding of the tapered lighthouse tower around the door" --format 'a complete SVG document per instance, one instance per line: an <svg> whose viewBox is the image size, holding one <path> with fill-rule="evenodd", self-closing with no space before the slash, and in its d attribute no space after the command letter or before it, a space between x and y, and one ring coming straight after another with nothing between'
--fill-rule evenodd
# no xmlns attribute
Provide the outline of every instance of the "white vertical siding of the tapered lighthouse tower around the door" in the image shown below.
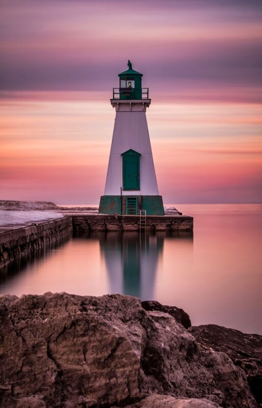
<svg viewBox="0 0 262 408"><path fill-rule="evenodd" d="M104 195L120 195L122 187L122 156L133 149L141 154L140 191L123 191L123 195L159 195L146 114L144 111L117 111L110 151ZM136 109L136 107L135 107Z"/></svg>

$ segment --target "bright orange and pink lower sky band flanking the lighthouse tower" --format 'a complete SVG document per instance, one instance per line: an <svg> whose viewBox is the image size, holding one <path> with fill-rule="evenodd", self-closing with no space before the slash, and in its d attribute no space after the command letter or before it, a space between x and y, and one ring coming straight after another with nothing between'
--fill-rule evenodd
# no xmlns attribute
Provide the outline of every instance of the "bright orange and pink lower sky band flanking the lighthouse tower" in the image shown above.
<svg viewBox="0 0 262 408"><path fill-rule="evenodd" d="M109 100L18 95L1 101L2 196L98 202L115 116ZM261 111L259 104L152 102L147 119L164 201L260 201Z"/></svg>

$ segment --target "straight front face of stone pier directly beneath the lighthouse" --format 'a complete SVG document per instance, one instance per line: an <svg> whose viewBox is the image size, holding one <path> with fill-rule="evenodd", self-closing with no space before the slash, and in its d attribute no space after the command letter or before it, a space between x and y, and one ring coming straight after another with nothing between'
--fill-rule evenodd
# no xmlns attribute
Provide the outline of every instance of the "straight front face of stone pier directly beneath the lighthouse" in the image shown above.
<svg viewBox="0 0 262 408"><path fill-rule="evenodd" d="M72 220L75 232L140 230L140 217L136 215L73 215ZM150 215L146 217L146 230L151 232L193 232L193 217L187 215Z"/></svg>

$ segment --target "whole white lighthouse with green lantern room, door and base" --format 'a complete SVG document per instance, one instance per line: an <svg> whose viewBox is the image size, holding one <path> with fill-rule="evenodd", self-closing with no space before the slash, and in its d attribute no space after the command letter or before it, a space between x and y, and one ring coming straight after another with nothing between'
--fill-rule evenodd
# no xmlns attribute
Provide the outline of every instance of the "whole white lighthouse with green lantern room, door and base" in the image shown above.
<svg viewBox="0 0 262 408"><path fill-rule="evenodd" d="M164 215L159 195L146 121L148 88L142 88L143 74L128 69L118 74L111 105L116 110L106 187L100 198L99 214Z"/></svg>

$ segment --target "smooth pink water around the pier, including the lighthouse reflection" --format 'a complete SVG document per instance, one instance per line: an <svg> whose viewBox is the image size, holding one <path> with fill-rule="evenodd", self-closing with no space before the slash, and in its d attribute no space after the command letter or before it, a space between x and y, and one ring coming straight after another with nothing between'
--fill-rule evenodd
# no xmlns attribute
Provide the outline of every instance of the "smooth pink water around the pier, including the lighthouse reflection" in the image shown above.
<svg viewBox="0 0 262 408"><path fill-rule="evenodd" d="M97 233L70 238L10 265L0 292L125 293L216 323L262 334L262 205L178 205L194 237Z"/></svg>

